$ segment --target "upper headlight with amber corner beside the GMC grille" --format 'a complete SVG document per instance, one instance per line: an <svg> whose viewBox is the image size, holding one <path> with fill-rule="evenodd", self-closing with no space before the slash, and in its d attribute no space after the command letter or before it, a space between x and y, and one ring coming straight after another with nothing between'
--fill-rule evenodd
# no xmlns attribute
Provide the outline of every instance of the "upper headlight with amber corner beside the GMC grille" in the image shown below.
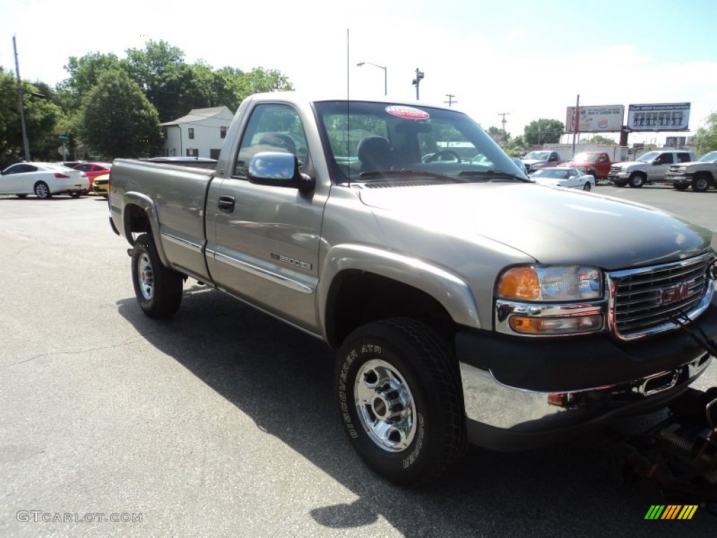
<svg viewBox="0 0 717 538"><path fill-rule="evenodd" d="M513 301L588 301L602 297L602 272L577 265L525 265L498 280L498 297Z"/></svg>

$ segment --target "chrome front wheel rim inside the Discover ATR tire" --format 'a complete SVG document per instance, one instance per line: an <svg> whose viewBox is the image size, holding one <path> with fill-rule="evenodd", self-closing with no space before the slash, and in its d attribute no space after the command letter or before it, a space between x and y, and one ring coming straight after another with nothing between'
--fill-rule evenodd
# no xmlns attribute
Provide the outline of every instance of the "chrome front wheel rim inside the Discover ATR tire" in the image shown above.
<svg viewBox="0 0 717 538"><path fill-rule="evenodd" d="M401 373L388 362L373 359L356 374L353 401L364 430L379 448L405 450L417 430L413 395Z"/></svg>

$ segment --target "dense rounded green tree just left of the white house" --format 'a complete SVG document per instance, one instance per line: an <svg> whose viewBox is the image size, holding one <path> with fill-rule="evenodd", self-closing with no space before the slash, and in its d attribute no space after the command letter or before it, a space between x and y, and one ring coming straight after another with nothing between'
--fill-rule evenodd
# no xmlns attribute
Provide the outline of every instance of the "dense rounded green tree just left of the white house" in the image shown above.
<svg viewBox="0 0 717 538"><path fill-rule="evenodd" d="M158 154L162 131L157 110L123 70L108 70L82 101L79 134L103 159Z"/></svg>

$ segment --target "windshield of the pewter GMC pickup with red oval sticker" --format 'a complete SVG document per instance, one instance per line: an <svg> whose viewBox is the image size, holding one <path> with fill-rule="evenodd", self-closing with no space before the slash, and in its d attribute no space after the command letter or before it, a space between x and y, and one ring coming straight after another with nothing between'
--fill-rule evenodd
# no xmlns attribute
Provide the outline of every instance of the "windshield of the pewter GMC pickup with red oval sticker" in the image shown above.
<svg viewBox="0 0 717 538"><path fill-rule="evenodd" d="M526 178L478 123L455 110L323 101L315 111L332 176L343 181L375 180L391 171L448 178L500 171Z"/></svg>

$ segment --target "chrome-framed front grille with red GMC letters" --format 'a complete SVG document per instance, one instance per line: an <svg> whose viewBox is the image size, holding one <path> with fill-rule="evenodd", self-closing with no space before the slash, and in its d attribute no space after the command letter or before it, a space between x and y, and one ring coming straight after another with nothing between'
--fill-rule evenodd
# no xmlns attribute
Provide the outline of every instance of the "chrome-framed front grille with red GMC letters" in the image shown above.
<svg viewBox="0 0 717 538"><path fill-rule="evenodd" d="M669 331L682 314L694 318L709 305L713 255L607 275L609 325L620 339L630 340Z"/></svg>

